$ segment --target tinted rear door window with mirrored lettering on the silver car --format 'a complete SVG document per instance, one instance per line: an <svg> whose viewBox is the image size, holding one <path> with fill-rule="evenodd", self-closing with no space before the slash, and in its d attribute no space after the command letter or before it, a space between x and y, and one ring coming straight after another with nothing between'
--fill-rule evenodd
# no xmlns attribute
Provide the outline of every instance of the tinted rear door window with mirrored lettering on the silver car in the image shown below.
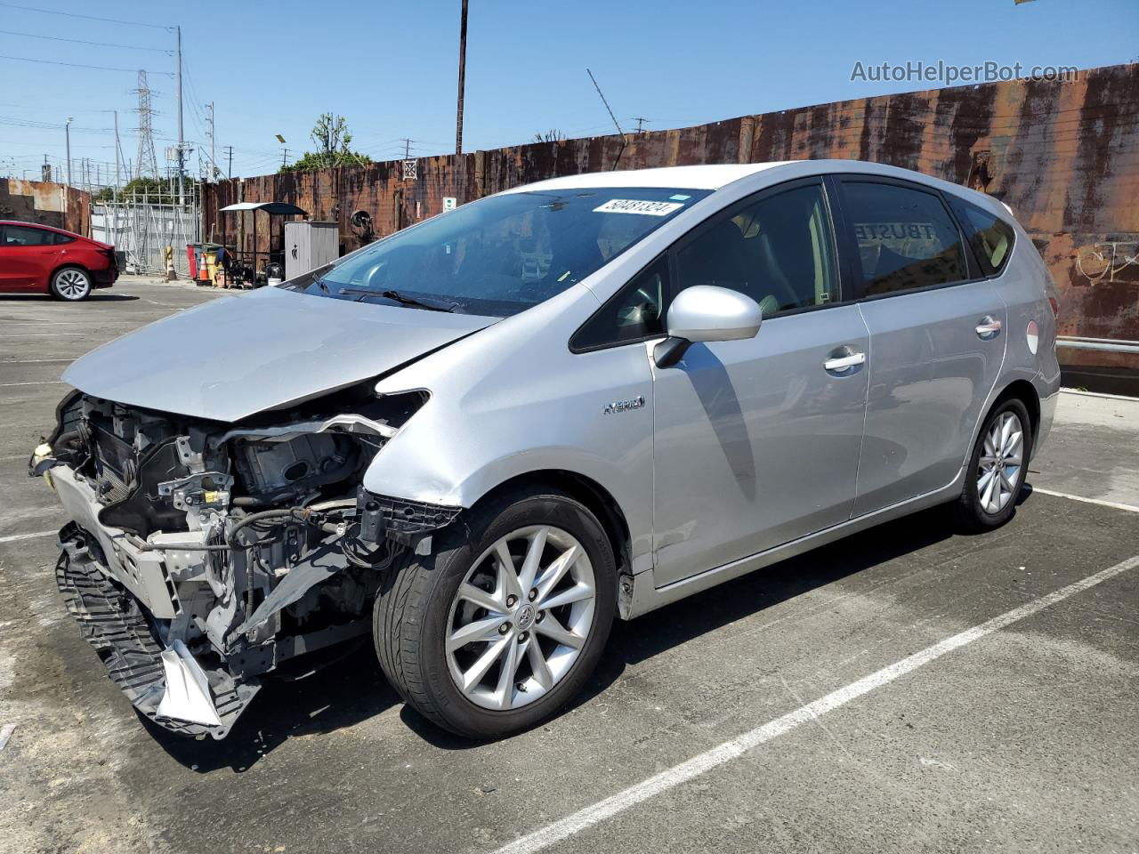
<svg viewBox="0 0 1139 854"><path fill-rule="evenodd" d="M957 224L932 192L844 181L867 296L934 288L968 278Z"/></svg>

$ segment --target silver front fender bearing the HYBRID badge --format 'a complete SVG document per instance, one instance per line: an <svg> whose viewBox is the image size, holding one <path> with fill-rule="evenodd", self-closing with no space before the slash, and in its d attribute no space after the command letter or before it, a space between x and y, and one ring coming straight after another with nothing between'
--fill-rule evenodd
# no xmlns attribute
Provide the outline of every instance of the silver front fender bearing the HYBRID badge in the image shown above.
<svg viewBox="0 0 1139 854"><path fill-rule="evenodd" d="M587 298L582 309L596 310ZM380 383L382 393L423 387L431 399L376 455L364 488L469 508L513 477L568 471L613 496L633 556L647 553L653 381L646 345L571 353L562 342L580 322L577 313L563 306L536 334L532 325L542 318L511 318Z"/></svg>

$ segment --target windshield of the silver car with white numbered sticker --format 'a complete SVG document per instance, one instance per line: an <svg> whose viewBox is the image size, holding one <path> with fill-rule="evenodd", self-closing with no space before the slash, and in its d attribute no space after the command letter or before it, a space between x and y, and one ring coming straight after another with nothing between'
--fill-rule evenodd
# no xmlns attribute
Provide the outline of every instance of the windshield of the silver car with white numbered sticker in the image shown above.
<svg viewBox="0 0 1139 854"><path fill-rule="evenodd" d="M707 195L575 188L492 196L282 287L338 299L507 317L581 281Z"/></svg>

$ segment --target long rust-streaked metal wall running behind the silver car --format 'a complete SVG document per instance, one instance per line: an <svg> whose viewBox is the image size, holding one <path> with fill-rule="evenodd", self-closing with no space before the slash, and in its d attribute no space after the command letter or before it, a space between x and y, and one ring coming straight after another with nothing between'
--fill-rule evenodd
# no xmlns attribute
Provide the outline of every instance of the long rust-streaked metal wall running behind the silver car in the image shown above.
<svg viewBox="0 0 1139 854"><path fill-rule="evenodd" d="M620 155L620 162L617 161ZM206 235L238 200L292 202L339 224L364 210L391 233L459 204L554 175L698 163L802 158L890 163L968 184L1009 204L1062 294L1060 334L1139 340L1139 64L1081 72L1076 82L1024 81L908 92L617 137L539 142L364 167L235 179L207 188ZM232 215L230 215L232 216ZM244 246L252 247L252 214ZM261 214L264 217L264 214ZM233 243L235 224L230 224ZM268 248L264 222L261 249ZM280 229L272 248L279 249ZM1133 355L1065 350L1071 366L1124 367Z"/></svg>

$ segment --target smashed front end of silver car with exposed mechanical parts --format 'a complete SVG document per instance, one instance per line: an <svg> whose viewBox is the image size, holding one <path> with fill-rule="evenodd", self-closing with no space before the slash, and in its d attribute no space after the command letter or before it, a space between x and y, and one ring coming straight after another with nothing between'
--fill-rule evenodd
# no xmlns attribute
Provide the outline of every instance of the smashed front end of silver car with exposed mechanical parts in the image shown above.
<svg viewBox="0 0 1139 854"><path fill-rule="evenodd" d="M361 486L426 399L349 389L236 424L60 403L30 462L72 518L56 580L141 714L224 738L267 674L370 631L383 572L459 512Z"/></svg>

